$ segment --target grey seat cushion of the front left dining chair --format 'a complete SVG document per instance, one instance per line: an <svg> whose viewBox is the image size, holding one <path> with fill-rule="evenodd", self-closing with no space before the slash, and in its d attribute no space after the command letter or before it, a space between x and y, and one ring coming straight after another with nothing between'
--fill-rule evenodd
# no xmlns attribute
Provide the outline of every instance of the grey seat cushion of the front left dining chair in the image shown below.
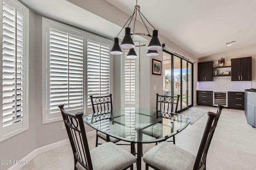
<svg viewBox="0 0 256 170"><path fill-rule="evenodd" d="M94 170L122 170L136 162L136 157L112 142L106 142L90 150ZM84 168L78 162L78 170Z"/></svg>

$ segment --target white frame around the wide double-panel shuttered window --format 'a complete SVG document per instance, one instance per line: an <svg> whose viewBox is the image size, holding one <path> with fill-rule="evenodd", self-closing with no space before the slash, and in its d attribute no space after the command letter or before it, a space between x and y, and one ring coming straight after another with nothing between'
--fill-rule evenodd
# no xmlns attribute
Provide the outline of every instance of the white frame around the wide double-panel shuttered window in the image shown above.
<svg viewBox="0 0 256 170"><path fill-rule="evenodd" d="M48 24L48 25L47 25ZM54 113L55 115L49 119L49 116L47 117L47 105L49 105L49 100L47 95L48 94L48 89L47 89L47 82L49 82L48 77L47 77L47 67L50 64L49 62L49 56L48 53L48 42L47 42L47 26L50 25L56 25L58 27L62 27L64 29L68 29L74 32L79 32L82 33L83 35L83 42L84 42L84 81L83 81L83 109L78 109L78 110L72 110L72 112L77 112L77 111L83 111L84 113L88 113L92 111L92 108L88 108L88 99L87 99L87 94L88 94L88 88L87 88L87 40L90 40L92 37L93 39L97 39L102 42L108 42L110 47L112 46L113 41L101 36L97 36L95 34L86 32L82 29L75 28L73 26L68 26L65 23L61 23L58 21L54 21L48 18L42 17L42 124L46 123L53 123L57 121L62 121L62 115L60 111L58 113ZM61 31L61 30L58 30ZM110 55L110 93L112 93L112 55ZM52 114L52 113L51 113Z"/></svg>

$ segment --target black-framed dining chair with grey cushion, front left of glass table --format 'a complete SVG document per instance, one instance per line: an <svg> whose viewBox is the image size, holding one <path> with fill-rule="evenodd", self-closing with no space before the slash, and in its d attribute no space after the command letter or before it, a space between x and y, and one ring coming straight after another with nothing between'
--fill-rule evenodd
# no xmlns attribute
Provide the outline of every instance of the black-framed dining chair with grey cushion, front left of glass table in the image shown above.
<svg viewBox="0 0 256 170"><path fill-rule="evenodd" d="M133 170L136 157L112 142L106 142L89 150L84 128L83 112L69 113L64 105L58 105L68 132L74 155L75 170Z"/></svg>

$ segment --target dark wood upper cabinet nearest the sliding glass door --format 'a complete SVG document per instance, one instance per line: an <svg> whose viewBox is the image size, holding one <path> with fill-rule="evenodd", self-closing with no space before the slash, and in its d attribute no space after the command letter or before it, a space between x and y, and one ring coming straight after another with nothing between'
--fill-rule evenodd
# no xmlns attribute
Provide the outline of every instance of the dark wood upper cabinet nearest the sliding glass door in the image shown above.
<svg viewBox="0 0 256 170"><path fill-rule="evenodd" d="M198 63L198 81L212 81L213 61Z"/></svg>

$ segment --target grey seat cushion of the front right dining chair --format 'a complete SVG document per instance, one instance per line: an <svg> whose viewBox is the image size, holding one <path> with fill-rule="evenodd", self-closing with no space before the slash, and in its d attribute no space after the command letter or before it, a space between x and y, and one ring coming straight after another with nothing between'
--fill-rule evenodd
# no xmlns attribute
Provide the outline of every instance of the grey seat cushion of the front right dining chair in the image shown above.
<svg viewBox="0 0 256 170"><path fill-rule="evenodd" d="M175 144L161 142L146 152L143 160L160 170L192 170L196 156Z"/></svg>

